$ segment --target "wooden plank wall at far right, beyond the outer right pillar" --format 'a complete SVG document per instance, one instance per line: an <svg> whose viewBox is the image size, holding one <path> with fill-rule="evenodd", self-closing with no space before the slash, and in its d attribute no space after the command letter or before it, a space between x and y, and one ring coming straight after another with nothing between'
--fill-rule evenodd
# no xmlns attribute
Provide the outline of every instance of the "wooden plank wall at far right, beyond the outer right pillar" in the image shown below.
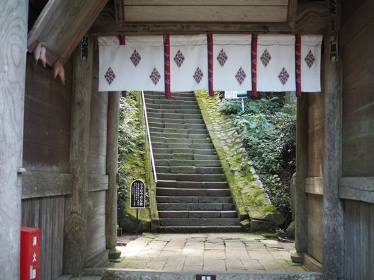
<svg viewBox="0 0 374 280"><path fill-rule="evenodd" d="M344 1L340 34L343 177L339 187L341 198L346 199L345 279L374 279L373 9L370 0Z"/></svg>

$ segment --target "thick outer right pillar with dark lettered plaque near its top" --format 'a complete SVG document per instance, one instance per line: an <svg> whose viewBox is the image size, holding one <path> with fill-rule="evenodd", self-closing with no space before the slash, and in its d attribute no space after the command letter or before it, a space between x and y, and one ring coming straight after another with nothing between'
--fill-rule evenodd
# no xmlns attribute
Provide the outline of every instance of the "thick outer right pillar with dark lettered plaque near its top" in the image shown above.
<svg viewBox="0 0 374 280"><path fill-rule="evenodd" d="M336 1L336 26L324 37L324 221L323 264L325 279L344 279L344 209L339 199L341 177L341 59L330 62L330 35L339 32L341 1ZM336 33L332 33L335 30Z"/></svg>

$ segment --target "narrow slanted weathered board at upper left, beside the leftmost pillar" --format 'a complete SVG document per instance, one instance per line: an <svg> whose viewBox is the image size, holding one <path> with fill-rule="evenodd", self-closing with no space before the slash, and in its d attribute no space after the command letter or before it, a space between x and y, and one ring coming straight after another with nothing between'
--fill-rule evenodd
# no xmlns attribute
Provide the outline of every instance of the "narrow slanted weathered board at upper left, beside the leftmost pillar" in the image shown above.
<svg viewBox="0 0 374 280"><path fill-rule="evenodd" d="M60 6L62 0L50 0L43 8L42 13L38 17L37 21L33 25L33 28L28 33L28 51L33 52L33 48L35 47L35 42L38 40L42 30L44 30L45 26L48 24L52 16L54 16L55 11L57 10L58 6ZM33 48L30 49L29 46L33 45Z"/></svg>

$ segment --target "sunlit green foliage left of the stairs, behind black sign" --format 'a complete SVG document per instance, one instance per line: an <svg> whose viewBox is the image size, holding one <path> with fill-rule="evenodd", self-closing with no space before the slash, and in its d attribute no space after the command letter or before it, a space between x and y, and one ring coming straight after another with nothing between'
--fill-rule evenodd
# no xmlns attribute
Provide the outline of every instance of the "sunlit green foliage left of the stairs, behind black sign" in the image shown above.
<svg viewBox="0 0 374 280"><path fill-rule="evenodd" d="M145 178L143 146L144 129L140 127L139 108L136 93L128 92L127 98L120 98L120 125L118 133L118 211L123 212L130 196L132 180ZM120 216L120 215L118 215Z"/></svg>

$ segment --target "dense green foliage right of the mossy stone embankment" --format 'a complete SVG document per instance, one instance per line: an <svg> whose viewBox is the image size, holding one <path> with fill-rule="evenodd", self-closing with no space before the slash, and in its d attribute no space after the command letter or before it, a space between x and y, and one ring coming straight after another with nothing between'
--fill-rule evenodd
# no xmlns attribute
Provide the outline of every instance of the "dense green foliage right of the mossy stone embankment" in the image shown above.
<svg viewBox="0 0 374 280"><path fill-rule="evenodd" d="M283 95L245 100L244 112L237 110L240 100L225 100L220 110L230 116L246 146L251 162L261 177L274 206L290 219L290 177L295 172L295 109L283 112ZM240 103L239 103L240 105Z"/></svg>

